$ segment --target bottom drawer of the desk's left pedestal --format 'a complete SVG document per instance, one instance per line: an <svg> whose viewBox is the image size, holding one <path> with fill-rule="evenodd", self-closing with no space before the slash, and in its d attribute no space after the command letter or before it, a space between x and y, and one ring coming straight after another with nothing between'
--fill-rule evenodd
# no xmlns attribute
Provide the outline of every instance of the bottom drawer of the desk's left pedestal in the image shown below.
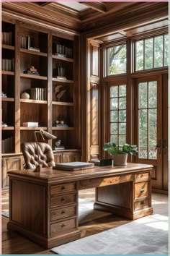
<svg viewBox="0 0 170 256"><path fill-rule="evenodd" d="M54 236L71 229L76 229L76 218L50 224L50 236Z"/></svg>

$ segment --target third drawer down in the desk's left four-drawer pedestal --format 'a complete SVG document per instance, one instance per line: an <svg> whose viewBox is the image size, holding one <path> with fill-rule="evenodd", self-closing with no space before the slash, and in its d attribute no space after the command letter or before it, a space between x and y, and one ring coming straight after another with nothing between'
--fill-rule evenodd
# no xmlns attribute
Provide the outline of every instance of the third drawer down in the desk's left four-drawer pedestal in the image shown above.
<svg viewBox="0 0 170 256"><path fill-rule="evenodd" d="M70 206L50 211L50 221L56 221L61 218L67 218L76 215L76 206Z"/></svg>

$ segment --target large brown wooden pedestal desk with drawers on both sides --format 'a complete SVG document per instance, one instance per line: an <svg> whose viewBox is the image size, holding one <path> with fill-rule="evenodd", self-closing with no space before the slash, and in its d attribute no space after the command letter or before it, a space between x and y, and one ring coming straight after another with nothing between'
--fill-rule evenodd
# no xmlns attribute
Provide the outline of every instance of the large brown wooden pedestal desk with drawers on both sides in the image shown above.
<svg viewBox="0 0 170 256"><path fill-rule="evenodd" d="M151 165L9 171L8 229L45 248L80 238L78 192L96 187L94 208L132 220L153 213Z"/></svg>

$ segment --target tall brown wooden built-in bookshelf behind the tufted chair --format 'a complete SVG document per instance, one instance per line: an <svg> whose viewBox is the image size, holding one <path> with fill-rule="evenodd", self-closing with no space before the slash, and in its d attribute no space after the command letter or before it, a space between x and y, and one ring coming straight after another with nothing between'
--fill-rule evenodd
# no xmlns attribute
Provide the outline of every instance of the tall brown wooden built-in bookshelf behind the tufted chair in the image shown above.
<svg viewBox="0 0 170 256"><path fill-rule="evenodd" d="M75 40L75 35L12 22L2 22L2 59L12 60L4 61L1 72L2 188L8 187L9 169L23 168L20 145L34 142L37 129L61 140L64 150L55 147L56 140L50 142L57 163L80 161L81 154L75 98L79 92L75 76L79 36ZM28 122L38 127L25 126Z"/></svg>

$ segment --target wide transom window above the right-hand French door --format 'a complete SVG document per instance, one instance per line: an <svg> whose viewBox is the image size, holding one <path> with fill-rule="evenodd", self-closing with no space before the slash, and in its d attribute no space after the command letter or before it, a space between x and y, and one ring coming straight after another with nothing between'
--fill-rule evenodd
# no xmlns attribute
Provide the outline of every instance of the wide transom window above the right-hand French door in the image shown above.
<svg viewBox="0 0 170 256"><path fill-rule="evenodd" d="M135 71L168 65L169 36L158 35L135 42Z"/></svg>

